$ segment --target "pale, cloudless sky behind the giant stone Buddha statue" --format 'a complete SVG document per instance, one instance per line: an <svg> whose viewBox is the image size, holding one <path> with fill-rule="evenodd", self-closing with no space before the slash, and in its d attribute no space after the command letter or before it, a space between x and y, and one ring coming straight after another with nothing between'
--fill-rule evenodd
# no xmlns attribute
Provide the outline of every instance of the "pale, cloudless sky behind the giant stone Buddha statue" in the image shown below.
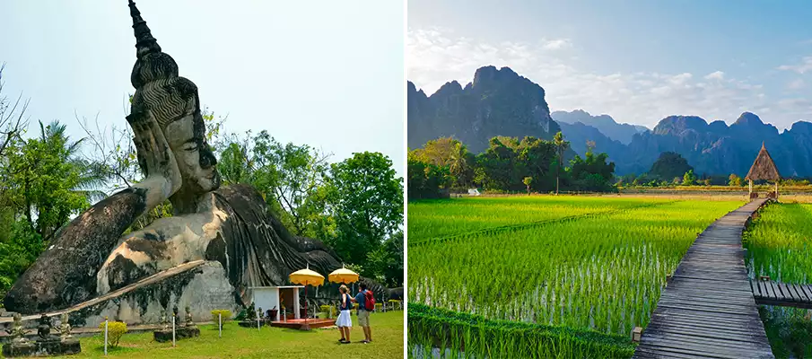
<svg viewBox="0 0 812 359"><path fill-rule="evenodd" d="M200 101L226 130L266 129L283 143L389 155L404 166L404 12L398 1L141 0L136 4ZM79 118L125 127L135 38L126 0L4 0L4 93L74 138Z"/></svg>

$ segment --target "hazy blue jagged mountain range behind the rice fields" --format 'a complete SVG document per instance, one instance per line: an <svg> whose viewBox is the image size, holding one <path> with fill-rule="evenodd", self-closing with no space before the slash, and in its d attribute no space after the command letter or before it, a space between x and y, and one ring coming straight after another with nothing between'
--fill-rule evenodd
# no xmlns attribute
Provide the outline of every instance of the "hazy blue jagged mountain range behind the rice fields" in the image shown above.
<svg viewBox="0 0 812 359"><path fill-rule="evenodd" d="M648 130L580 109L551 114L541 86L508 67L494 66L476 70L474 82L464 88L454 81L431 96L409 82L407 96L410 148L453 136L479 153L493 136L550 139L560 129L575 153L583 155L586 142L593 141L598 152L606 152L616 163L619 175L649 171L659 153L670 151L685 157L697 173L743 176L764 142L781 176L812 177L812 123L807 121L780 132L750 112L731 125L669 116Z"/></svg>

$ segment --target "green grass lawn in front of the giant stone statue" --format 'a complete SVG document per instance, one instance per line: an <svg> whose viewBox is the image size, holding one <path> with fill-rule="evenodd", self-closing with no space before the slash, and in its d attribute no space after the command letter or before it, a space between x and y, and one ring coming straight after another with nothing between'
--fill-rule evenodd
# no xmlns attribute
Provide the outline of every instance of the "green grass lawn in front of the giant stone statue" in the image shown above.
<svg viewBox="0 0 812 359"><path fill-rule="evenodd" d="M353 343L338 344L338 329L313 329L302 332L292 329L263 327L241 328L231 321L223 326L218 337L217 326L201 326L200 337L172 343L153 342L153 333L126 334L118 348L108 350L110 358L402 358L403 311L372 313L372 340L363 339L361 327L353 318ZM83 337L82 354L65 358L104 357L103 335Z"/></svg>

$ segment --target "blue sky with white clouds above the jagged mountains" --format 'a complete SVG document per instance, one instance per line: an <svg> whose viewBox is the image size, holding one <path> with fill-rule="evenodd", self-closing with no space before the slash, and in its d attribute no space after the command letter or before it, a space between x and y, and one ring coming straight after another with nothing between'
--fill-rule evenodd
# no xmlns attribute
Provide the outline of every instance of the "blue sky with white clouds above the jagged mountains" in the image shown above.
<svg viewBox="0 0 812 359"><path fill-rule="evenodd" d="M427 93L510 66L552 110L812 121L812 2L408 2L407 77Z"/></svg>

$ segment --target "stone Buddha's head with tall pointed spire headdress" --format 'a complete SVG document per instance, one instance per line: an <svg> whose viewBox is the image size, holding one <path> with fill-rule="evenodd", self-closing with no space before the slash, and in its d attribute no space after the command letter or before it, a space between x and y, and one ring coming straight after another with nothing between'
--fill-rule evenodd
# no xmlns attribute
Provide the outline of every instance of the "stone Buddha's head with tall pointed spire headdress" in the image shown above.
<svg viewBox="0 0 812 359"><path fill-rule="evenodd" d="M178 162L183 184L179 195L196 196L220 187L217 160L205 138L197 86L178 75L178 64L162 52L135 3L129 0L135 31L136 61L132 113L149 110L163 130Z"/></svg>

